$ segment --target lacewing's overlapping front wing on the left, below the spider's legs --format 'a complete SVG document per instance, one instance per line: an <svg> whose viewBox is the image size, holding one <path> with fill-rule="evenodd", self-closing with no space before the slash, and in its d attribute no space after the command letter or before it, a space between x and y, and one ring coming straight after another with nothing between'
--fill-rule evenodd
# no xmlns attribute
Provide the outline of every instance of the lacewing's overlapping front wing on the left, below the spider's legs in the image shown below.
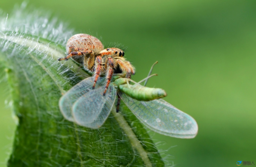
<svg viewBox="0 0 256 167"><path fill-rule="evenodd" d="M74 122L85 127L97 129L108 118L116 100L116 87L110 85L103 96L105 86L88 91L73 104Z"/></svg>

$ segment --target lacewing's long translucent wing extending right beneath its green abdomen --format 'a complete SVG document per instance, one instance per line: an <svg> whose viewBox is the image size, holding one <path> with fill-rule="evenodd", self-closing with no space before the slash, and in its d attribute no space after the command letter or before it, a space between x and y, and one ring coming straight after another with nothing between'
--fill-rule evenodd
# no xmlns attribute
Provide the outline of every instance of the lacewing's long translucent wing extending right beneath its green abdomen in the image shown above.
<svg viewBox="0 0 256 167"><path fill-rule="evenodd" d="M176 138L194 138L198 131L196 121L163 99L138 101L120 93L124 103L149 129Z"/></svg>

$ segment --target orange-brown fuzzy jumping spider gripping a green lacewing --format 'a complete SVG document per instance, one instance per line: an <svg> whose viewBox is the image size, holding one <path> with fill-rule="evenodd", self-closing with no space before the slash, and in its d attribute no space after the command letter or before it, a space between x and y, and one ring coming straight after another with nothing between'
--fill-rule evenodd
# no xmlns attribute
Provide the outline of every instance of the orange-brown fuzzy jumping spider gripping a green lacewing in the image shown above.
<svg viewBox="0 0 256 167"><path fill-rule="evenodd" d="M76 34L69 38L67 45L67 56L58 60L68 60L72 57L78 63L84 64L84 69L95 76L92 88L99 76L106 75L107 83L103 95L114 73L126 74L127 78L134 75L135 68L124 58L124 51L118 48L104 49L99 39L88 34Z"/></svg>

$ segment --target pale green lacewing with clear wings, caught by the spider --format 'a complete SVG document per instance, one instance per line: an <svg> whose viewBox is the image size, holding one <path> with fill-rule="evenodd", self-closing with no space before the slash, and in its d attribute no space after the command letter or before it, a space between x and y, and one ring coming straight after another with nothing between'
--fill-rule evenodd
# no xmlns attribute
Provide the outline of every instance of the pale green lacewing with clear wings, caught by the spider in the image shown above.
<svg viewBox="0 0 256 167"><path fill-rule="evenodd" d="M103 96L105 78L99 78L95 89L92 89L94 78L86 78L60 98L60 111L69 121L98 129L108 118L118 95L132 113L152 131L176 138L196 136L196 121L190 115L159 99L166 96L165 91L147 88L139 83L131 85L129 81L132 80L122 77L113 79L106 95Z"/></svg>

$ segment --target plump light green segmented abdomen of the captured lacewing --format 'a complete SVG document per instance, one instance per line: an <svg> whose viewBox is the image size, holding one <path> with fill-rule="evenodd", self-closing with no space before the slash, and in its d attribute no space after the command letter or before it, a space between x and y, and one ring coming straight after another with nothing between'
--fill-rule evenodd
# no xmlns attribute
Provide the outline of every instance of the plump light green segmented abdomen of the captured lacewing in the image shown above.
<svg viewBox="0 0 256 167"><path fill-rule="evenodd" d="M119 89L133 99L149 101L165 97L167 94L160 88L148 88L141 85L119 85Z"/></svg>

